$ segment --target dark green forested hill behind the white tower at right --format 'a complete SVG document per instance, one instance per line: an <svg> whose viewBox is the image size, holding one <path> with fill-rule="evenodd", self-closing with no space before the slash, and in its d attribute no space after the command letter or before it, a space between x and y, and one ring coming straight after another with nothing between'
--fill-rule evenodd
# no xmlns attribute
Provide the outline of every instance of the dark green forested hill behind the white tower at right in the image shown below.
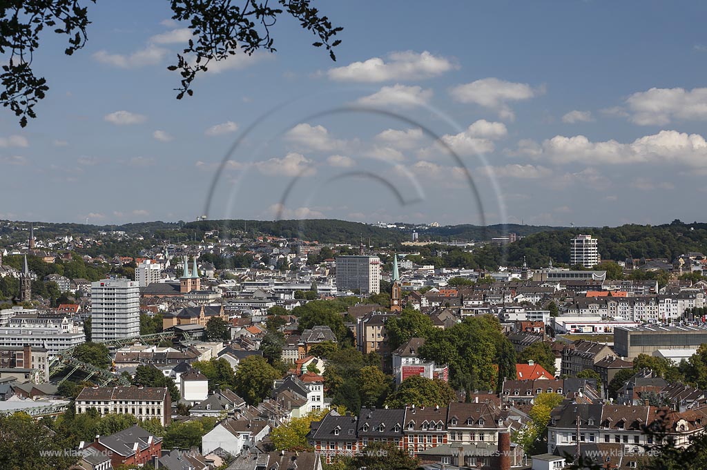
<svg viewBox="0 0 707 470"><path fill-rule="evenodd" d="M707 253L707 223L673 221L665 225L621 225L536 233L509 245L508 264L518 266L524 256L531 267L547 266L550 257L554 262L568 263L570 239L578 233L599 240L602 259L667 258L672 262L687 252Z"/></svg>

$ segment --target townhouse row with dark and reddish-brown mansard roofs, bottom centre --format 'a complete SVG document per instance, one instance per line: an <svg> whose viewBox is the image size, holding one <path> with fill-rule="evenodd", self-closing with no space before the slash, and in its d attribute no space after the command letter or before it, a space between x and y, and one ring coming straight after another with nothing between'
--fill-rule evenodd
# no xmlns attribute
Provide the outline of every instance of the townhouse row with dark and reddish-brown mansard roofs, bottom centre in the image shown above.
<svg viewBox="0 0 707 470"><path fill-rule="evenodd" d="M514 425L509 411L493 403L364 408L358 416L327 414L311 424L308 440L330 463L337 455L354 456L372 442L390 442L411 455L440 445L496 444L498 434Z"/></svg>

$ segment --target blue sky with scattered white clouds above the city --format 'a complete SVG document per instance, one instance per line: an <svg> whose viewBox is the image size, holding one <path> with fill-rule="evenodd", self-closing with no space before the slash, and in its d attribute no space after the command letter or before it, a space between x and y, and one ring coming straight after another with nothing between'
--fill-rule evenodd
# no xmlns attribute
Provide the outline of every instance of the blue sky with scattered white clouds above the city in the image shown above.
<svg viewBox="0 0 707 470"><path fill-rule="evenodd" d="M0 218L703 220L701 2L319 6L344 27L337 62L281 18L276 54L229 59L182 101L168 1L89 6L85 49L48 34L35 55L39 117L0 112Z"/></svg>

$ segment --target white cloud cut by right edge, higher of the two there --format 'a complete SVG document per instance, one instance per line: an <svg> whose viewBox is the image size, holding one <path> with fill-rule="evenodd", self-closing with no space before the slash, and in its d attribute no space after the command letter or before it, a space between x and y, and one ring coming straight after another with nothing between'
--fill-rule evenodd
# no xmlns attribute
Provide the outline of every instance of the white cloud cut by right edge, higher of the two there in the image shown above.
<svg viewBox="0 0 707 470"><path fill-rule="evenodd" d="M707 88L650 88L626 99L631 122L642 126L668 124L673 119L707 119Z"/></svg>

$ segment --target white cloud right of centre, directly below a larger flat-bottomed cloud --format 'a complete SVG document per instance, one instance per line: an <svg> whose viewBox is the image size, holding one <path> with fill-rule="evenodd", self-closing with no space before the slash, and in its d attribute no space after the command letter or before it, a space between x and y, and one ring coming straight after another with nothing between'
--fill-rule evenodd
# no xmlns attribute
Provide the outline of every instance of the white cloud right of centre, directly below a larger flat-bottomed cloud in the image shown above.
<svg viewBox="0 0 707 470"><path fill-rule="evenodd" d="M493 152L496 148L493 141L502 139L506 135L508 129L505 124L480 119L467 127L467 130L455 135L445 134L440 140L457 155L479 155L479 153ZM431 158L432 155L446 152L445 146L437 142L433 146L421 149L418 156Z"/></svg>

